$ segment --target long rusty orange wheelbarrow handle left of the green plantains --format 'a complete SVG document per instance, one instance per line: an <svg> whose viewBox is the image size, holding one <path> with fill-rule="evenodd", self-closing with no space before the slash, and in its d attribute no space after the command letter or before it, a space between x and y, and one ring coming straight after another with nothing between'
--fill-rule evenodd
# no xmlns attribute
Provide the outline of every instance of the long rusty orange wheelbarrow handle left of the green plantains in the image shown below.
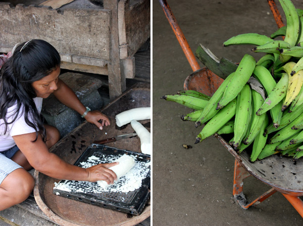
<svg viewBox="0 0 303 226"><path fill-rule="evenodd" d="M187 61L190 64L191 69L193 71L200 69L200 66L199 66L194 54L192 53L192 51L189 47L189 44L188 44L182 30L180 29L180 27L177 23L177 20L174 16L173 12L171 11L168 3L166 2L166 0L159 0L159 2L160 2L160 5L162 7L162 10L163 10L166 18L168 19L169 24L171 25L179 43L180 43L180 46L185 54Z"/></svg>

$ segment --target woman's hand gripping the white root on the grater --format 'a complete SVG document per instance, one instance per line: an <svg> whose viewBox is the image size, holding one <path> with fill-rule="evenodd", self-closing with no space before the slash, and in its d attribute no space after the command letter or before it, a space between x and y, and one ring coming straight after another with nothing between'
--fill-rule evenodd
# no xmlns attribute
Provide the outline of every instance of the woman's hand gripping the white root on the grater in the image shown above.
<svg viewBox="0 0 303 226"><path fill-rule="evenodd" d="M117 164L119 164L119 162L98 164L86 168L86 170L88 170L88 181L96 182L98 180L105 180L109 185L114 184L114 180L117 180L117 175L109 168Z"/></svg>

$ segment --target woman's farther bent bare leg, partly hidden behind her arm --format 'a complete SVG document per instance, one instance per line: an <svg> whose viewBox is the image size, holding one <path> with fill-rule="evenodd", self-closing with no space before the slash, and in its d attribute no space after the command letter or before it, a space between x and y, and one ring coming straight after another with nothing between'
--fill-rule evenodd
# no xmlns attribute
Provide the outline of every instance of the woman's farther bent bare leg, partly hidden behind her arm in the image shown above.
<svg viewBox="0 0 303 226"><path fill-rule="evenodd" d="M46 146L49 149L59 141L60 133L54 126L44 125L44 127L46 129ZM29 164L20 150L16 152L16 154L12 157L12 160L21 165L26 170L32 169L32 166Z"/></svg>

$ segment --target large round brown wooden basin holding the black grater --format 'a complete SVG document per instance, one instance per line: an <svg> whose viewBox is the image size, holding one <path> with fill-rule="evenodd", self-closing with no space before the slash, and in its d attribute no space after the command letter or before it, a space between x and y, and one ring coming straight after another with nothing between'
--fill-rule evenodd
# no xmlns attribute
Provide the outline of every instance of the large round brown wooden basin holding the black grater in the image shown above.
<svg viewBox="0 0 303 226"><path fill-rule="evenodd" d="M66 162L74 164L93 141L134 131L130 124L117 127L116 114L132 108L149 106L150 84L137 83L102 109L102 112L108 115L111 120L110 126L105 126L103 130L99 130L95 125L85 121L62 138L50 151ZM150 120L140 122L148 125ZM141 152L140 140L137 136L108 143L107 146ZM53 194L54 183L58 183L59 179L48 177L38 171L35 171L34 177L36 180L34 196L38 206L45 215L59 225L128 226L135 225L150 216L149 203L140 215L131 215L55 195Z"/></svg>

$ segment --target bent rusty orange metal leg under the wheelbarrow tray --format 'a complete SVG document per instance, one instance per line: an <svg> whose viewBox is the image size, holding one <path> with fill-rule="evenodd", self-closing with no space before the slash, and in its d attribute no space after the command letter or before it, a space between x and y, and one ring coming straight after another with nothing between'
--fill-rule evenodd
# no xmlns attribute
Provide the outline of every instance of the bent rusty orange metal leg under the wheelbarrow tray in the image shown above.
<svg viewBox="0 0 303 226"><path fill-rule="evenodd" d="M234 167L234 184L233 184L233 196L235 200L238 202L238 204L243 209L248 209L252 205L258 205L261 202L263 202L265 199L273 195L277 192L275 189L270 189L267 192L265 192L263 195L261 195L259 198L255 199L252 202L248 202L243 194L243 180L250 176L249 174L241 165L240 163L235 160L235 167Z"/></svg>

